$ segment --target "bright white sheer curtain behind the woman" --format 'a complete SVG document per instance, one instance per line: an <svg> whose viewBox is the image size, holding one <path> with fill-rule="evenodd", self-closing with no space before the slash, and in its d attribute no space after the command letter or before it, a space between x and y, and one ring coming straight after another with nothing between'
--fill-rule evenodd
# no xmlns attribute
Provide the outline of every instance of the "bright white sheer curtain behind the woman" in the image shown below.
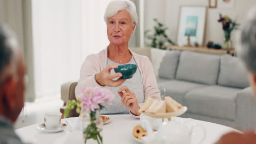
<svg viewBox="0 0 256 144"><path fill-rule="evenodd" d="M37 98L57 96L63 83L78 81L86 56L107 47L103 16L110 1L113 0L32 1ZM139 25L131 46L139 46L138 29Z"/></svg>

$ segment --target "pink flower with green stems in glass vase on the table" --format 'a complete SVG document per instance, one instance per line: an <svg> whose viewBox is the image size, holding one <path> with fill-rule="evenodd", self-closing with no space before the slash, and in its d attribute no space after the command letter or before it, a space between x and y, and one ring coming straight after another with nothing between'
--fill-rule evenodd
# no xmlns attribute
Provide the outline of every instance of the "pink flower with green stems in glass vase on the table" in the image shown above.
<svg viewBox="0 0 256 144"><path fill-rule="evenodd" d="M82 90L77 100L68 101L68 106L65 109L65 117L71 109L77 106L77 113L88 113L86 118L89 122L84 129L85 143L89 139L96 140L97 143L102 143L101 128L97 127L98 110L102 109L103 104L109 103L114 99L114 94L106 88L87 87Z"/></svg>

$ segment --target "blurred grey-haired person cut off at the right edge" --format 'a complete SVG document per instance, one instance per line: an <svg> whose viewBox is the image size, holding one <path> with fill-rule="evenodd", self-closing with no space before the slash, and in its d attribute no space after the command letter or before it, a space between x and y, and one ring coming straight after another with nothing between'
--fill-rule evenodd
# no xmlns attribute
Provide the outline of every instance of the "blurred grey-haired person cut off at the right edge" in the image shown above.
<svg viewBox="0 0 256 144"><path fill-rule="evenodd" d="M256 8L249 13L239 36L237 53L248 69L249 81L256 98ZM254 131L244 134L232 132L224 135L217 142L220 143L256 143L256 134Z"/></svg>

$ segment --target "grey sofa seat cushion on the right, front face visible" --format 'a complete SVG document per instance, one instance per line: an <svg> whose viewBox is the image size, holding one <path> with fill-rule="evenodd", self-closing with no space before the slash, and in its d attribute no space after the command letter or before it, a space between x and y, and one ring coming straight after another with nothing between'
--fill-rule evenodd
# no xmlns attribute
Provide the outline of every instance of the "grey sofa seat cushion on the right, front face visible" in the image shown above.
<svg viewBox="0 0 256 144"><path fill-rule="evenodd" d="M185 104L191 113L235 120L236 94L240 90L218 85L198 88L185 95Z"/></svg>

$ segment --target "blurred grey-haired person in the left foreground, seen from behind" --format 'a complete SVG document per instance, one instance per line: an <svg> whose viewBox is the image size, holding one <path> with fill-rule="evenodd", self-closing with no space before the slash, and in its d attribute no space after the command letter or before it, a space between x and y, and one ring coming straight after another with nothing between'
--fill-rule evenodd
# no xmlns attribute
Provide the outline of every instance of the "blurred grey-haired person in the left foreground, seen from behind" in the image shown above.
<svg viewBox="0 0 256 144"><path fill-rule="evenodd" d="M14 35L0 24L0 143L22 143L13 123L24 105L24 57Z"/></svg>

